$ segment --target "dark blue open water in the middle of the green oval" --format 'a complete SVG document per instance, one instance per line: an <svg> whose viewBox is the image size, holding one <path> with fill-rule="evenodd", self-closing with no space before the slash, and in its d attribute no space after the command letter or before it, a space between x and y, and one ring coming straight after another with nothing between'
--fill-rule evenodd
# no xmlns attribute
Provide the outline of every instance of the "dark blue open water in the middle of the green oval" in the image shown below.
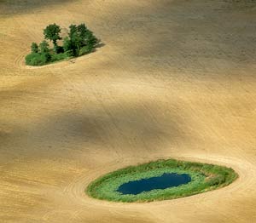
<svg viewBox="0 0 256 223"><path fill-rule="evenodd" d="M172 186L180 186L191 181L189 174L162 174L148 179L134 180L127 182L118 188L122 194L139 194L154 189L166 189Z"/></svg>

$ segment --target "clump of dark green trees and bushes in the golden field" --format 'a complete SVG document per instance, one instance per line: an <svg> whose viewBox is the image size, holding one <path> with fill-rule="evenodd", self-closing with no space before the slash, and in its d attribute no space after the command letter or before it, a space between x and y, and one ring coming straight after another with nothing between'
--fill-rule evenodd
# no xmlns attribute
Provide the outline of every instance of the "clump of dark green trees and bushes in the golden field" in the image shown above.
<svg viewBox="0 0 256 223"><path fill-rule="evenodd" d="M49 42L53 48L49 48ZM59 42L62 41L62 45ZM61 37L61 27L51 24L44 29L44 41L32 43L26 55L26 65L43 66L59 60L90 54L100 41L84 24L69 26L67 37Z"/></svg>

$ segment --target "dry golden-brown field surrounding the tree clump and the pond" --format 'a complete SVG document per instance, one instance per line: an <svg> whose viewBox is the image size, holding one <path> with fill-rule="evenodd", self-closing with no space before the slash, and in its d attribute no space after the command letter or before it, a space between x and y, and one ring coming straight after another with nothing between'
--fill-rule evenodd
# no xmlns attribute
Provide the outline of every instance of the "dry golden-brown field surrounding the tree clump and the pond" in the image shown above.
<svg viewBox="0 0 256 223"><path fill-rule="evenodd" d="M84 22L105 45L26 67L54 22ZM256 222L255 76L252 0L0 0L0 222ZM84 193L170 157L240 177L155 203Z"/></svg>

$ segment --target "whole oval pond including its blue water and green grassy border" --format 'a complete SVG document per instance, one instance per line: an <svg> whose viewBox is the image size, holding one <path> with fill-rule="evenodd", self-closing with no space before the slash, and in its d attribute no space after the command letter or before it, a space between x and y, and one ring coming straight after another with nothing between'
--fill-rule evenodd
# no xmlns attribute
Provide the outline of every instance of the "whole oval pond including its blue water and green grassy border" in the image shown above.
<svg viewBox="0 0 256 223"><path fill-rule="evenodd" d="M228 186L238 174L208 163L157 160L118 169L92 181L85 192L114 202L152 202L187 197Z"/></svg>

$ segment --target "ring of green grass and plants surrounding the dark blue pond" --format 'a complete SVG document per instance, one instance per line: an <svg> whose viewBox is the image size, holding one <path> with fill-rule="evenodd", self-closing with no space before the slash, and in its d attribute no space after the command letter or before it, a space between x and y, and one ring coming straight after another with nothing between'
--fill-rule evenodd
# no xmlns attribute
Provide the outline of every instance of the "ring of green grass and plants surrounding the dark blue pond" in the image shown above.
<svg viewBox="0 0 256 223"><path fill-rule="evenodd" d="M148 179L164 173L189 174L191 181L185 185L142 192L137 195L124 195L117 191L119 186L129 181ZM91 182L85 192L90 197L102 200L143 203L212 191L230 185L237 177L238 174L233 169L224 166L168 159L130 166L105 174Z"/></svg>

